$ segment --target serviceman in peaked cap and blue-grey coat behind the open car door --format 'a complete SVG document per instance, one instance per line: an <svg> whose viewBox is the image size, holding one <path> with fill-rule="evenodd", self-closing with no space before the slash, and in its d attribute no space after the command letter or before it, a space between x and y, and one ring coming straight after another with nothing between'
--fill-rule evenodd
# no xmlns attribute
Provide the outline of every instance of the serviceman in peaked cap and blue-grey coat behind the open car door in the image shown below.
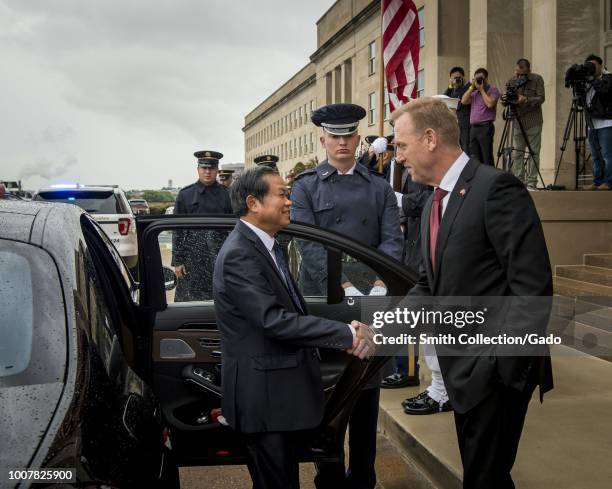
<svg viewBox="0 0 612 489"><path fill-rule="evenodd" d="M401 260L403 241L395 194L381 175L355 161L359 144L357 127L365 115L363 107L354 104L327 105L312 114L312 122L323 128L320 141L327 159L295 178L291 219L332 229ZM303 258L300 284L304 294L325 295L324 250L314 243L298 244ZM384 295L384 283L364 269L367 267L361 263L345 259L342 283L345 295ZM375 378L363 390L351 414L348 472L345 474L341 464L320 464L316 479L319 489L339 484L372 489L376 485L379 383L380 377Z"/></svg>

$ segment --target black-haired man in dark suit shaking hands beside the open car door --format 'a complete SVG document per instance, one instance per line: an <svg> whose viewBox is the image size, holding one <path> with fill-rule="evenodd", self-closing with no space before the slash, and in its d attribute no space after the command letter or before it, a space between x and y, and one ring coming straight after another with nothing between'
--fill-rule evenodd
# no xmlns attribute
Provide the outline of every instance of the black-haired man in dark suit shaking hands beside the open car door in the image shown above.
<svg viewBox="0 0 612 489"><path fill-rule="evenodd" d="M223 415L244 436L254 489L298 488L300 433L323 418L317 347L373 353L372 332L310 316L274 239L289 224L280 175L259 166L230 190L240 221L215 263L213 296L223 353Z"/></svg>

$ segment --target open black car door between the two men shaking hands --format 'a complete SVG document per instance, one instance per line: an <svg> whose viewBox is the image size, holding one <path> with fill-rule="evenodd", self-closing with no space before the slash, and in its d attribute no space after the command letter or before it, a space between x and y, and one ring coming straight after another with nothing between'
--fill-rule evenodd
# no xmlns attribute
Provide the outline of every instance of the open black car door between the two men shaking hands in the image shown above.
<svg viewBox="0 0 612 489"><path fill-rule="evenodd" d="M175 459L182 466L245 463L239 438L217 417L223 358L212 300L214 260L235 223L235 217L226 216L137 218L140 307L151 345L147 380L160 400ZM309 313L316 316L350 323L362 319L363 300L370 306L372 300L388 302L388 297L344 297L341 283L347 277L365 296L368 283L376 278L385 282L388 296L404 296L415 280L413 271L376 249L316 226L291 224L278 240L296 282L302 290L309 289L305 300ZM186 278L174 275L177 264L185 264ZM305 283L306 272L314 268L321 279L318 288L312 281ZM352 406L387 360L361 361L325 349L321 357L325 415L312 443L304 447L302 461L342 457Z"/></svg>

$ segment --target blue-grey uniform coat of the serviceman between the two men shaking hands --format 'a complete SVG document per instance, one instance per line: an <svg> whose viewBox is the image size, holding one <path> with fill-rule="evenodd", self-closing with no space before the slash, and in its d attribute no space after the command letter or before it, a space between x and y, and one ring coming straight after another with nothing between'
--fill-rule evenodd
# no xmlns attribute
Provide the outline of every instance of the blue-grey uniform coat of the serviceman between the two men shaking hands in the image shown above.
<svg viewBox="0 0 612 489"><path fill-rule="evenodd" d="M352 175L338 175L326 160L298 175L291 191L291 219L345 234L402 259L403 238L397 199L389 183L357 163ZM327 265L320 245L301 242L300 285L306 295L324 290ZM315 294L317 295L317 294Z"/></svg>

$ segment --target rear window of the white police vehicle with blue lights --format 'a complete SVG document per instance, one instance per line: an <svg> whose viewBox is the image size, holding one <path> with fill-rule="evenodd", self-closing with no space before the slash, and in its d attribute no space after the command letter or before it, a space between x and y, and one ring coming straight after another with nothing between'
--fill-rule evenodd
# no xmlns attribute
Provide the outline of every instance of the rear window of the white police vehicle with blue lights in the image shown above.
<svg viewBox="0 0 612 489"><path fill-rule="evenodd" d="M34 200L74 204L90 214L129 214L126 204L113 190L53 190L39 192Z"/></svg>

